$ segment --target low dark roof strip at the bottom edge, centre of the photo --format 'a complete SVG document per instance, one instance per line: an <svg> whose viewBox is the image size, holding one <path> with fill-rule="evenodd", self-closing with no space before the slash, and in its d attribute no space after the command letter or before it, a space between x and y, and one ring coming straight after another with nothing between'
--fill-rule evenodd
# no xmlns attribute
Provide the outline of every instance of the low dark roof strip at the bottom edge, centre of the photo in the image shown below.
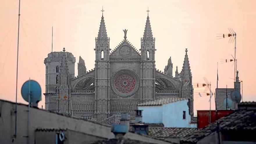
<svg viewBox="0 0 256 144"><path fill-rule="evenodd" d="M131 140L131 139L127 139L127 138L119 138L119 139L109 139L109 140L103 140L103 141L97 141L95 143L91 143L91 144L153 144L153 143L147 143L147 142L143 142L143 141L137 141L137 140Z"/></svg>

